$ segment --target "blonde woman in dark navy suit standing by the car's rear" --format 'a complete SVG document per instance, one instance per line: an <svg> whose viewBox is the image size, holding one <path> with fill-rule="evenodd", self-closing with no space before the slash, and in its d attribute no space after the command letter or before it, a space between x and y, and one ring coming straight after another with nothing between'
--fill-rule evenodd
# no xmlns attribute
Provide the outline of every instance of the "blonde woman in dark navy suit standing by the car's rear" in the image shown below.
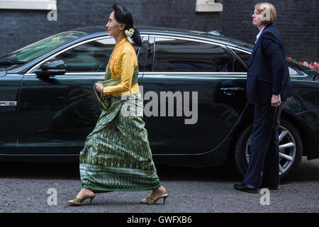
<svg viewBox="0 0 319 227"><path fill-rule="evenodd" d="M245 178L235 189L257 193L258 188L279 187L278 128L282 101L293 96L286 63L284 41L273 25L274 6L262 2L254 6L252 24L259 29L247 70L247 100L254 104L250 139L250 160Z"/></svg>

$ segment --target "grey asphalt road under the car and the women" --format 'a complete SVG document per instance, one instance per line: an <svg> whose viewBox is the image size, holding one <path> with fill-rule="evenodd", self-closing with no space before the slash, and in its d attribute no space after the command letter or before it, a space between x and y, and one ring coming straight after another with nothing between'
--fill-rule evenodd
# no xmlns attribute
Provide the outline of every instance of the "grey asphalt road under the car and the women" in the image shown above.
<svg viewBox="0 0 319 227"><path fill-rule="evenodd" d="M67 206L79 192L79 165L0 163L0 212L83 213L215 213L319 211L319 160L304 160L279 191L270 194L237 192L242 178L235 170L157 166L169 197L166 204L140 204L150 192L97 194L92 205ZM48 190L53 189L53 191ZM55 191L56 190L56 191ZM56 205L55 205L55 192ZM53 199L52 199L53 198ZM52 205L48 204L51 203ZM262 205L261 204L262 201ZM267 205L269 204L269 205Z"/></svg>

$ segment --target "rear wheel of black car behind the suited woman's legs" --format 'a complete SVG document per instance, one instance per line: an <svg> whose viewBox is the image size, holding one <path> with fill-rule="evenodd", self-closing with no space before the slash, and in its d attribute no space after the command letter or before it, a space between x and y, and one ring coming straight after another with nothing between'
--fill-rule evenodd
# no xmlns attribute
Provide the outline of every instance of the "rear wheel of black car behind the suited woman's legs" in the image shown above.
<svg viewBox="0 0 319 227"><path fill-rule="evenodd" d="M252 125L245 128L235 146L235 165L242 177L250 159L250 136ZM279 125L279 175L281 181L294 172L303 156L301 135L296 128L284 119Z"/></svg>

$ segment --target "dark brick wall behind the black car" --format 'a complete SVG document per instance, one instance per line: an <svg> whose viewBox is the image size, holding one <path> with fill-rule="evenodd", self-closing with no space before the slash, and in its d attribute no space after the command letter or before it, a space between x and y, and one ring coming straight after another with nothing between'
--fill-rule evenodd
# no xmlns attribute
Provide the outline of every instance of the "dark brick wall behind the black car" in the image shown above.
<svg viewBox="0 0 319 227"><path fill-rule="evenodd" d="M57 0L57 21L49 11L0 9L0 56L50 35L82 26L105 25L116 0ZM135 25L222 31L225 36L254 43L254 0L219 0L223 12L196 13L196 0L117 0L133 11ZM276 7L275 25L286 44L287 57L319 61L318 0L269 1Z"/></svg>

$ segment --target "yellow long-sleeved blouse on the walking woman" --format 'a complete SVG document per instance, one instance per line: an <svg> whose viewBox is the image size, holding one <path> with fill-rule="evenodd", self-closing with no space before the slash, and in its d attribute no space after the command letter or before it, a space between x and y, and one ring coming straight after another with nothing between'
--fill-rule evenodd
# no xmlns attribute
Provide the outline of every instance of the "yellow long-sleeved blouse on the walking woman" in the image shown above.
<svg viewBox="0 0 319 227"><path fill-rule="evenodd" d="M114 86L104 87L103 94L112 96L124 96L138 93L138 83L132 84L132 77L135 67L138 65L138 57L130 44L128 38L123 38L116 44L108 66L111 71L111 79L121 77L121 83Z"/></svg>

